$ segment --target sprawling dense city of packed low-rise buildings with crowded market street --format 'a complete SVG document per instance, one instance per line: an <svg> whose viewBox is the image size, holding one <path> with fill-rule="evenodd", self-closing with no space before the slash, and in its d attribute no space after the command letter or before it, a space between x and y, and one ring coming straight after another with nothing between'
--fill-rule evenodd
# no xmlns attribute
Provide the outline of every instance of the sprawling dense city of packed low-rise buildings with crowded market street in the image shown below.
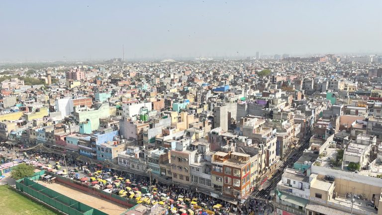
<svg viewBox="0 0 382 215"><path fill-rule="evenodd" d="M382 213L378 55L115 58L0 79L0 182L57 213Z"/></svg>

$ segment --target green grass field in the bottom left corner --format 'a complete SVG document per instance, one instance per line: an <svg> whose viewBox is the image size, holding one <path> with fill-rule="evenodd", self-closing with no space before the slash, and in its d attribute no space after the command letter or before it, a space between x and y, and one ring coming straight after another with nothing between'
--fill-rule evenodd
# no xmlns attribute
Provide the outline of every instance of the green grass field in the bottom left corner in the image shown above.
<svg viewBox="0 0 382 215"><path fill-rule="evenodd" d="M0 208L3 215L59 215L49 208L31 200L8 185L0 186Z"/></svg>

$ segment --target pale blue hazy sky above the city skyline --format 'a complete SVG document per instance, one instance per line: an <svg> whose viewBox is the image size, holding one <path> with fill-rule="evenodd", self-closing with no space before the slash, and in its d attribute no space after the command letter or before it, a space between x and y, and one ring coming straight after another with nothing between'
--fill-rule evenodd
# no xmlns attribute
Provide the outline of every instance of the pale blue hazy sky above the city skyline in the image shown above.
<svg viewBox="0 0 382 215"><path fill-rule="evenodd" d="M382 52L381 0L0 1L0 60ZM238 53L237 53L238 52Z"/></svg>

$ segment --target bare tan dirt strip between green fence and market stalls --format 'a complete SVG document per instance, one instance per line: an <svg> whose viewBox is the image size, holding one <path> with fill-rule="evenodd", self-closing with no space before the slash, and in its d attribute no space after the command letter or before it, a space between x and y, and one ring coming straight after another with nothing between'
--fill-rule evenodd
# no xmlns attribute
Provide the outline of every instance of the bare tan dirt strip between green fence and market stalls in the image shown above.
<svg viewBox="0 0 382 215"><path fill-rule="evenodd" d="M90 195L84 191L77 190L65 184L61 184L58 182L48 184L41 181L38 181L38 183L58 193L64 194L69 198L72 198L90 207L98 209L99 211L104 212L108 215L120 215L122 214L122 212L125 212L128 209L128 207L126 206L114 203L109 200L105 200L101 197Z"/></svg>

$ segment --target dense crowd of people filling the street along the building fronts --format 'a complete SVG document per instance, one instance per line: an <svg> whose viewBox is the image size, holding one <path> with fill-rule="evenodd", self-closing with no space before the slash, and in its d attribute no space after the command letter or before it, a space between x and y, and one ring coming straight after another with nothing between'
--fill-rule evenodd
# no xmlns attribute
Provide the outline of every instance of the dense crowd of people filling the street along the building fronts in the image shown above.
<svg viewBox="0 0 382 215"><path fill-rule="evenodd" d="M22 155L20 155L21 157ZM79 168L80 170L88 170L89 172L96 172L96 171L102 171L100 172L98 177L101 177L104 173L108 173L110 176L118 176L124 179L129 179L132 183L146 186L150 188L150 185L155 185L155 192L158 195L153 196L153 199L160 200L160 196L162 193L168 195L171 199L174 199L175 201L178 199L179 196L184 197L185 199L193 199L196 198L198 200L198 206L200 206L203 209L206 209L210 212L213 212L216 215L229 215L232 214L240 214L240 215L249 215L252 212L255 215L261 215L264 214L265 211L268 210L268 212L273 212L272 207L267 204L267 201L265 200L256 200L256 199L250 199L247 200L247 204L241 204L237 203L237 205L232 204L230 202L226 202L220 199L213 198L209 195L203 194L201 192L193 191L191 188L183 188L177 185L173 184L164 184L159 181L157 181L155 178L152 179L152 182L150 184L150 179L146 176L140 176L135 175L126 171L119 171L114 169L103 169L101 166L96 165L92 162L77 160L73 157L63 157L54 153L46 153L46 152L40 152L40 151L28 151L28 157L36 159L38 156L39 159L43 161L59 161L61 164L65 164L64 159L66 159L66 165L68 166L68 171L70 172L70 168ZM124 188L126 185L122 185L122 188ZM166 202L166 204L169 207L177 207L176 202ZM214 208L215 205L220 204L222 207ZM190 207L192 208L192 207ZM201 214L201 211L196 211L195 213Z"/></svg>

